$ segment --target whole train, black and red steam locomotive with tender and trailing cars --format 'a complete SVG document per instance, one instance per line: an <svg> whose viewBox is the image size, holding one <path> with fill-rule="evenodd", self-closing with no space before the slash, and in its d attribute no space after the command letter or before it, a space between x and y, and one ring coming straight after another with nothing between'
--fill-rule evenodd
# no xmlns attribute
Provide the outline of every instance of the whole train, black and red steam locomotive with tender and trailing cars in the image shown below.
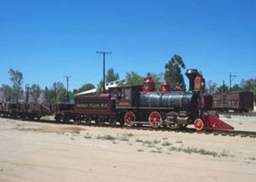
<svg viewBox="0 0 256 182"><path fill-rule="evenodd" d="M218 115L203 112L200 94L205 90L205 79L197 69L188 69L189 90L171 90L163 83L156 92L154 81L148 77L143 85L122 85L109 88L107 94L77 95L74 104L0 104L0 114L15 119L40 119L54 115L57 121L76 124L84 122L127 126L150 124L171 129L194 124L195 129L233 129L218 119Z"/></svg>

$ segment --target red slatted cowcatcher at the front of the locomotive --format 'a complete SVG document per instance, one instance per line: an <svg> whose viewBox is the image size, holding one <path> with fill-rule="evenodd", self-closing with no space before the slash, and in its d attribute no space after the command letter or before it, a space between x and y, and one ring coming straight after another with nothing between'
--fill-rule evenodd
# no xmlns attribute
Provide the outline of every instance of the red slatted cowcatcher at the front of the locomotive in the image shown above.
<svg viewBox="0 0 256 182"><path fill-rule="evenodd" d="M218 118L218 115L202 115L204 124L203 129L233 129L232 126L226 124Z"/></svg>

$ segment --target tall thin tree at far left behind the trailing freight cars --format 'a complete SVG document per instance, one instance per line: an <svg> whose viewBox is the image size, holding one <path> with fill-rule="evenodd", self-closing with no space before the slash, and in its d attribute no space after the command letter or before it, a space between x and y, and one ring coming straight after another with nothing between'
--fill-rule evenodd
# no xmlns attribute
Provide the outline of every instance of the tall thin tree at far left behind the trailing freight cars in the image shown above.
<svg viewBox="0 0 256 182"><path fill-rule="evenodd" d="M10 69L9 73L11 76L9 79L13 83L13 100L18 103L18 100L22 98L23 73L13 70L13 68Z"/></svg>

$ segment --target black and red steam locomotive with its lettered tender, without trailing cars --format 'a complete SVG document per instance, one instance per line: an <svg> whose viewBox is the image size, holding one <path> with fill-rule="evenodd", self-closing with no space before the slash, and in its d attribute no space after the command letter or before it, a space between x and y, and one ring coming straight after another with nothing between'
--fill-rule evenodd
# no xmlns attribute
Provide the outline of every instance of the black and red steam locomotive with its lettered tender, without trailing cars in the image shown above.
<svg viewBox="0 0 256 182"><path fill-rule="evenodd" d="M95 120L98 124L111 125L116 121L128 126L151 124L153 128L163 125L177 129L194 124L197 130L233 129L216 115L202 114L200 93L205 89L205 80L197 69L188 69L186 75L190 82L187 92L171 90L169 83L163 83L161 92L156 92L154 81L146 78L144 85L110 88L108 94L99 97L74 97L71 113L77 121L85 120L88 124Z"/></svg>

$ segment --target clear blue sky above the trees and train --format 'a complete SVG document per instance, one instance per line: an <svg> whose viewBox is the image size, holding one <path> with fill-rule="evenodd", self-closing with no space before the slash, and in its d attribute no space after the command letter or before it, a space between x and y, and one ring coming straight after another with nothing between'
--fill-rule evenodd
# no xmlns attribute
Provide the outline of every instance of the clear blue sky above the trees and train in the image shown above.
<svg viewBox="0 0 256 182"><path fill-rule="evenodd" d="M66 86L64 76L72 76L69 90L96 85L96 51L112 52L106 69L120 78L163 73L178 54L206 81L229 83L232 73L240 83L256 78L255 10L254 0L2 0L0 86L11 85L10 68L23 73L23 88Z"/></svg>

